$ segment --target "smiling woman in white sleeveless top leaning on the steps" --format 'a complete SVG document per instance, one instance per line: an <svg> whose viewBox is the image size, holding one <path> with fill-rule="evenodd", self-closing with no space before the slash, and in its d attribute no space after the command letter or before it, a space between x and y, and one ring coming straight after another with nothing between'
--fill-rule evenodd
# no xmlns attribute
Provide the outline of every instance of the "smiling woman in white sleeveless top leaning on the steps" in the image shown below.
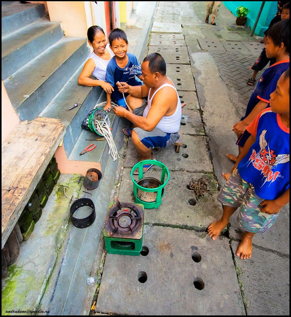
<svg viewBox="0 0 291 317"><path fill-rule="evenodd" d="M88 56L79 76L78 84L90 87L101 86L106 93L110 94L113 91L113 87L105 82L105 74L109 61L115 55L109 48L105 33L100 26L91 26L87 31L87 36L93 52ZM92 74L97 80L90 78Z"/></svg>

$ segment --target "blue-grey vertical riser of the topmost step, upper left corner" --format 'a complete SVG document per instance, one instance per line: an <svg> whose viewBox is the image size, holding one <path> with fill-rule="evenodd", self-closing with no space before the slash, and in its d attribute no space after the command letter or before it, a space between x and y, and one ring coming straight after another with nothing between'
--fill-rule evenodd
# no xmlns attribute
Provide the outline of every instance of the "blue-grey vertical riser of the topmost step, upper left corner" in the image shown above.
<svg viewBox="0 0 291 317"><path fill-rule="evenodd" d="M23 6L25 6L25 4L23 4ZM21 29L24 26L33 23L36 20L39 20L44 15L45 7L43 4L39 4L25 11L5 16L1 19L2 36L8 35L9 33Z"/></svg>

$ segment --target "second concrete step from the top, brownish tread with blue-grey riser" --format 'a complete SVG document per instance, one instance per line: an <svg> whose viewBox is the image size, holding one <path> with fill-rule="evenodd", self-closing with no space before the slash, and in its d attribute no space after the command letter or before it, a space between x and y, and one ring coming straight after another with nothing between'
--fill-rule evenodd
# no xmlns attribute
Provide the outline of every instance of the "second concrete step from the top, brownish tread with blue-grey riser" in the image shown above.
<svg viewBox="0 0 291 317"><path fill-rule="evenodd" d="M60 23L42 18L2 37L2 80L33 60L64 36Z"/></svg>

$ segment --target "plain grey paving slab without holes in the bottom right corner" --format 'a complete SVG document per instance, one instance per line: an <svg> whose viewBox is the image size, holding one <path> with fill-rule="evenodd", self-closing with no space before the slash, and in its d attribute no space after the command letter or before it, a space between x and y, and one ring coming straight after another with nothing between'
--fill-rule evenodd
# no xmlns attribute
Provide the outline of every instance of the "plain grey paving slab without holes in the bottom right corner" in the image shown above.
<svg viewBox="0 0 291 317"><path fill-rule="evenodd" d="M234 254L237 247L232 241ZM247 315L289 316L289 258L253 248L250 259L235 262Z"/></svg>

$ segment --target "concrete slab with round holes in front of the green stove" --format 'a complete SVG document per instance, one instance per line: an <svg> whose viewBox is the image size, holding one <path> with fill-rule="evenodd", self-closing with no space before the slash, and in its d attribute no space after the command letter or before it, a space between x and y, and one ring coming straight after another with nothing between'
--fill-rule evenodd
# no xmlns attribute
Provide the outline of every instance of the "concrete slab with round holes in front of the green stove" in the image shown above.
<svg viewBox="0 0 291 317"><path fill-rule="evenodd" d="M147 256L107 254L96 310L128 315L244 315L228 240L221 237L213 243L204 235L145 226ZM201 255L200 262L192 260L194 252ZM146 275L144 283L138 280L141 274ZM197 278L204 283L202 290L193 285Z"/></svg>

